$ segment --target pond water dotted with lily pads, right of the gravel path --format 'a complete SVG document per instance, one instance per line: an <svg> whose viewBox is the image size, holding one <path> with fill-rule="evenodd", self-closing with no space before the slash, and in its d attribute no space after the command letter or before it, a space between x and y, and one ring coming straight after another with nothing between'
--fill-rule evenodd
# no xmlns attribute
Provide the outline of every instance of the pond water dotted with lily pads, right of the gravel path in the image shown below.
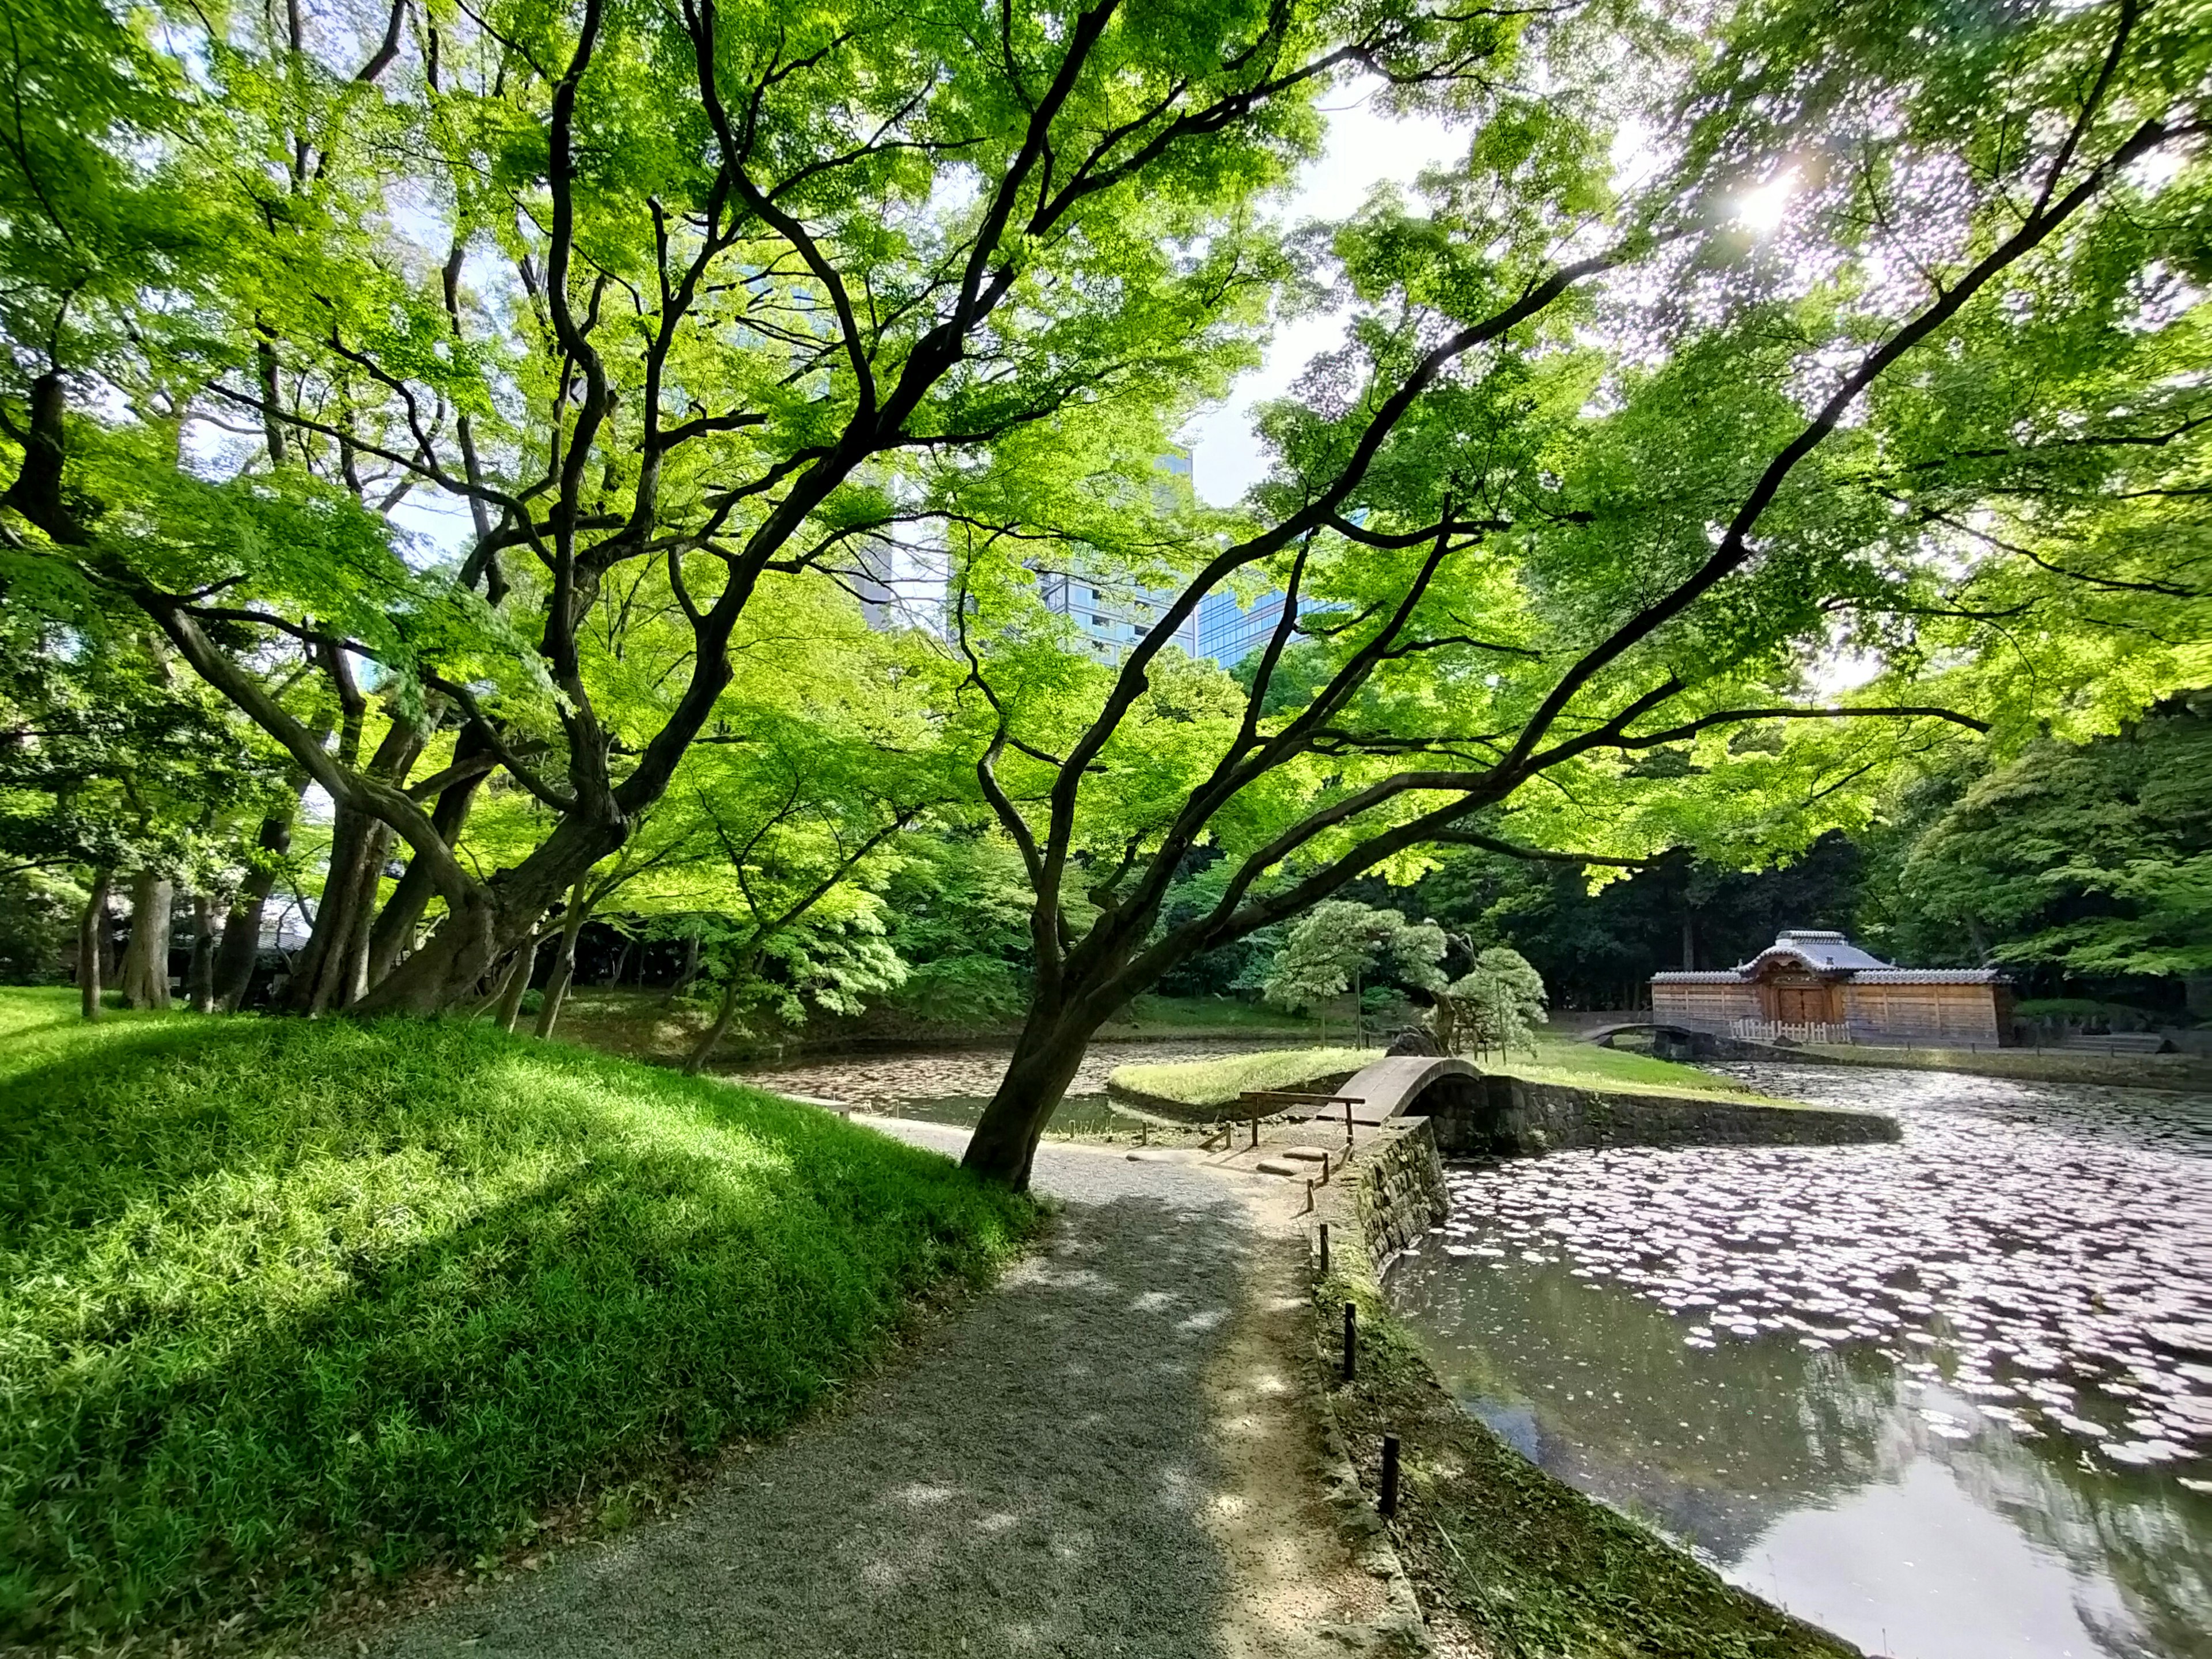
<svg viewBox="0 0 2212 1659"><path fill-rule="evenodd" d="M1714 1071L1905 1139L1455 1168L1460 1400L1869 1652L2212 1657L2212 1097Z"/></svg>

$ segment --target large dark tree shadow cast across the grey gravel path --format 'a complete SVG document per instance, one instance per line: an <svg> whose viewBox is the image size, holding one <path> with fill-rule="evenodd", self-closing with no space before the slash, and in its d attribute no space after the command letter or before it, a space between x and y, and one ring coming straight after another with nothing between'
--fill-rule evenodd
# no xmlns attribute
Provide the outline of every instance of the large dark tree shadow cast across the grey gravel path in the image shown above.
<svg viewBox="0 0 2212 1659"><path fill-rule="evenodd" d="M1203 1374L1250 1234L1234 1206L1071 1206L854 1409L677 1520L387 1632L427 1655L1217 1652L1230 1586Z"/></svg>

